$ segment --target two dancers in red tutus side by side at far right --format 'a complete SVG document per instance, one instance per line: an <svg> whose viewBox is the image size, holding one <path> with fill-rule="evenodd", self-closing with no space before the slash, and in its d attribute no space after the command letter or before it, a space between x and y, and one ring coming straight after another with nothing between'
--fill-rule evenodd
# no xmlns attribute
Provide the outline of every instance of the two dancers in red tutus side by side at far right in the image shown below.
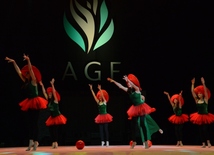
<svg viewBox="0 0 214 155"><path fill-rule="evenodd" d="M164 91L172 108L174 115L170 116L168 120L175 126L175 134L177 138L177 146L183 146L182 143L182 129L185 122L190 121L193 124L198 125L199 135L202 142L202 148L211 147L209 125L214 122L214 115L208 112L208 100L211 97L210 90L205 85L205 80L201 77L201 85L195 87L195 78L191 80L191 93L195 100L197 112L190 114L182 113L182 106L184 105L184 99L182 97L182 91L179 94L174 94L170 97L169 93Z"/></svg>

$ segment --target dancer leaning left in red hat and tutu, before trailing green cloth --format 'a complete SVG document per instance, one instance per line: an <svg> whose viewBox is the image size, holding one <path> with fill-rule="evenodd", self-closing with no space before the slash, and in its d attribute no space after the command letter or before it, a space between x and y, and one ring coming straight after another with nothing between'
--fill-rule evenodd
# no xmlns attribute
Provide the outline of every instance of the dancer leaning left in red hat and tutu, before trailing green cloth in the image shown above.
<svg viewBox="0 0 214 155"><path fill-rule="evenodd" d="M129 74L128 76L124 76L123 79L126 81L127 87L122 84L116 82L111 78L107 78L108 81L113 82L120 89L124 90L129 94L129 97L132 101L132 106L127 111L129 119L131 122L131 130L132 130L132 140L133 143L131 148L135 147L136 143L136 129L139 128L142 142L145 144L145 149L148 149L148 140L151 140L151 135L154 133L149 130L149 125L147 119L150 119L150 123L153 122L153 119L148 115L151 112L154 112L155 109L151 108L148 104L145 103L145 100L142 99L141 95L141 87L137 77L133 74ZM144 98L145 99L145 98ZM147 116L148 115L148 116ZM157 128L158 129L157 129ZM155 126L155 130L158 131L160 128Z"/></svg>

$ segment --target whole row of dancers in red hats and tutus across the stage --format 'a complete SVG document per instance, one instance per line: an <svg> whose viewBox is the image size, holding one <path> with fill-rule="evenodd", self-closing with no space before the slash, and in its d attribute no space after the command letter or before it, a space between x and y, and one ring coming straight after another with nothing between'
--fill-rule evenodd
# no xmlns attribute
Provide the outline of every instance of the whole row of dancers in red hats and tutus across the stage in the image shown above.
<svg viewBox="0 0 214 155"><path fill-rule="evenodd" d="M31 64L29 56L24 54L24 60L27 61L22 69L18 67L16 61L6 57L9 63L13 63L14 68L22 81L24 82L24 88L27 89L27 98L19 103L22 111L27 111L29 114L29 146L26 151L35 151L39 145L38 143L38 126L37 121L39 118L39 111L41 109L48 108L50 111L50 117L46 120L46 125L50 129L50 134L52 138L52 148L58 147L58 127L59 125L66 124L67 118L61 114L59 110L60 94L56 91L54 87L55 80L50 81L50 87L45 89L41 73ZM151 113L155 112L156 109L150 107L145 102L145 96L141 94L142 88L138 78L134 74L129 74L124 76L126 85L123 86L121 83L107 78L111 83L114 83L118 88L125 91L129 97L131 106L127 111L128 119L131 121L131 137L132 144L131 149L136 146L136 131L139 131L141 141L145 149L149 148L149 141L153 133L159 131L163 134L163 130L158 126L158 124L150 116ZM208 112L208 100L211 96L209 89L205 85L205 80L202 77L202 85L194 87L195 78L192 79L191 91L193 98L195 99L198 111L191 114L190 117L187 114L182 113L182 106L184 104L184 99L182 97L182 91L179 94L169 95L168 92L164 92L167 95L168 100L173 108L174 114L168 118L168 120L175 125L175 132L177 138L177 146L183 146L182 143L182 128L183 124L187 121L191 121L197 124L200 129L202 147L211 147L208 126L214 122L214 115ZM38 96L38 84L42 87L42 92L44 98ZM101 146L109 146L109 133L108 124L112 122L113 117L107 112L107 102L109 100L108 92L98 85L98 92L95 94L93 86L89 84L91 93L98 105L99 114L95 118L95 123L99 124L100 128L100 138ZM105 135L105 136L104 136Z"/></svg>

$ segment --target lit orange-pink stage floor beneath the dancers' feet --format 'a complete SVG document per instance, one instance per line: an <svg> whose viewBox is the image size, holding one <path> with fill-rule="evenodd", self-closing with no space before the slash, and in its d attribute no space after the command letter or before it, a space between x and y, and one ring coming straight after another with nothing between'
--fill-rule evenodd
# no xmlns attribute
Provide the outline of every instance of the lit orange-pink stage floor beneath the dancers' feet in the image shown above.
<svg viewBox="0 0 214 155"><path fill-rule="evenodd" d="M75 146L59 146L52 149L40 146L37 151L25 151L26 147L0 148L0 155L213 155L214 146L201 148L200 146L176 147L170 145L153 145L149 149L136 146L130 149L128 145L109 147L85 146L78 150Z"/></svg>

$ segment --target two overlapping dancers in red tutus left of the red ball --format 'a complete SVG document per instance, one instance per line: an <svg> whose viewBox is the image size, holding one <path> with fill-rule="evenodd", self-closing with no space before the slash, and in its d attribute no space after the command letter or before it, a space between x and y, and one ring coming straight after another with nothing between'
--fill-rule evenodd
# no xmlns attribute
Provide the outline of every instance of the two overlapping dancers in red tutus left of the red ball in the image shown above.
<svg viewBox="0 0 214 155"><path fill-rule="evenodd" d="M39 146L38 142L38 119L41 109L48 109L50 116L47 118L45 124L49 127L52 148L58 147L58 128L60 125L66 124L67 118L61 114L59 110L60 94L56 91L53 78L50 81L50 87L47 89L42 83L42 76L39 69L31 64L29 56L23 56L27 61L27 65L21 69L14 59L6 57L8 63L13 63L16 72L21 80L24 82L23 88L26 90L27 98L19 103L21 110L28 114L28 128L29 128L29 145L26 151L36 151ZM42 87L44 97L38 95L38 84Z"/></svg>

